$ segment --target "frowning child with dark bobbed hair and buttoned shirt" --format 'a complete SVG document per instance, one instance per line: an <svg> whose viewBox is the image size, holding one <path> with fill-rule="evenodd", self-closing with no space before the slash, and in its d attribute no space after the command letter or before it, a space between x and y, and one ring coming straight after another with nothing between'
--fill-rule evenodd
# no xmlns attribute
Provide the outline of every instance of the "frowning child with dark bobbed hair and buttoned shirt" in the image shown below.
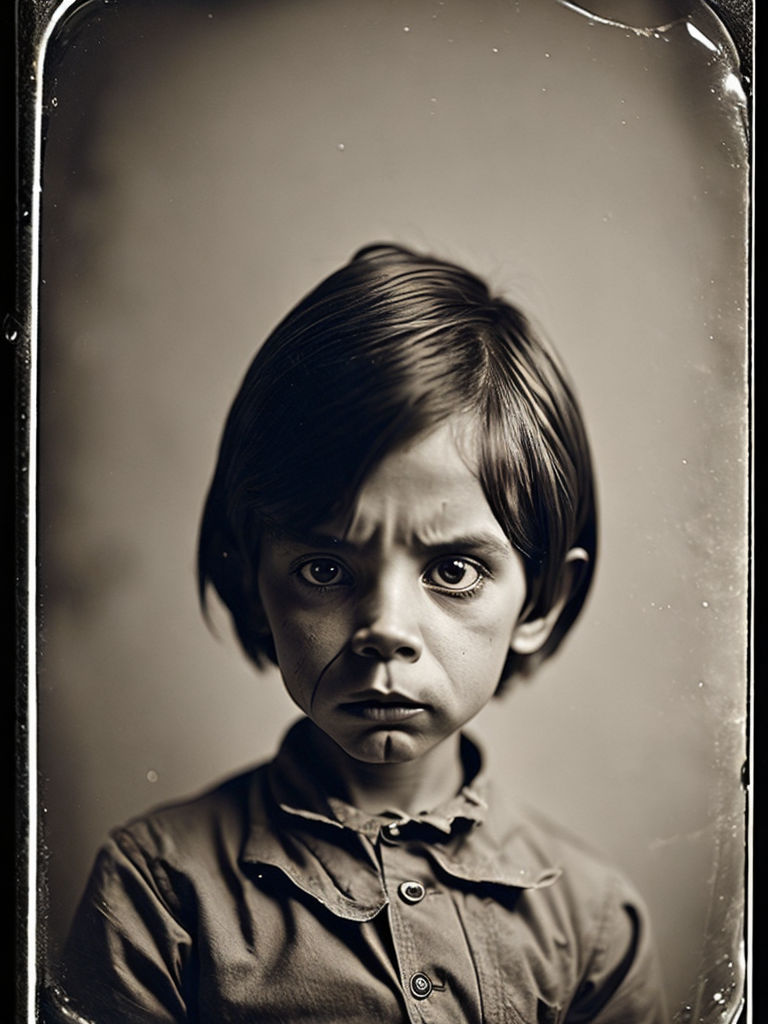
<svg viewBox="0 0 768 1024"><path fill-rule="evenodd" d="M558 647L596 557L587 438L521 313L371 246L283 321L208 495L212 585L303 713L275 759L116 830L63 1019L665 1020L645 911L463 727Z"/></svg>

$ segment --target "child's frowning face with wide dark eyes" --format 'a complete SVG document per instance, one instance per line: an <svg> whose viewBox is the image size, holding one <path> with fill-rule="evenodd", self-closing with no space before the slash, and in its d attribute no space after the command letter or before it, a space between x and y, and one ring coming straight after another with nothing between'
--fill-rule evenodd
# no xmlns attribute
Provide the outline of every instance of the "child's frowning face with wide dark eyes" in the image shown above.
<svg viewBox="0 0 768 1024"><path fill-rule="evenodd" d="M351 514L267 536L258 587L291 697L371 763L418 759L485 706L525 600L447 424L387 455Z"/></svg>

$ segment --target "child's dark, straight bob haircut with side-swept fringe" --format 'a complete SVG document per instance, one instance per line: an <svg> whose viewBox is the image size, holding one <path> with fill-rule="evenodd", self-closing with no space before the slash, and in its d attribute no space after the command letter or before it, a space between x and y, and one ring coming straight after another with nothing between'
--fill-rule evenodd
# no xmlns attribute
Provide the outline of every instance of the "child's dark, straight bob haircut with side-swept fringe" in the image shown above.
<svg viewBox="0 0 768 1024"><path fill-rule="evenodd" d="M525 316L474 274L373 245L278 325L224 427L200 530L200 598L205 610L213 585L257 665L275 660L254 626L262 531L318 525L388 452L456 416L477 428L478 479L523 558L524 616L557 601L571 548L589 556L544 647L510 651L500 688L558 647L597 555L589 444L565 373Z"/></svg>

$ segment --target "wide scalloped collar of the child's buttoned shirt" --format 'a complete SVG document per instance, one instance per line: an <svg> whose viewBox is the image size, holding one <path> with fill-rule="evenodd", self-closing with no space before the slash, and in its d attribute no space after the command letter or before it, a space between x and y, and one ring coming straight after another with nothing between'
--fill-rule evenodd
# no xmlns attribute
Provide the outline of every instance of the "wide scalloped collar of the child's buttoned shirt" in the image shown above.
<svg viewBox="0 0 768 1024"><path fill-rule="evenodd" d="M537 889L560 870L531 844L524 821L499 800L474 742L462 736L462 790L415 818L372 816L328 794L312 760L310 723L297 722L267 769L267 785L254 785L243 859L272 865L340 916L374 918L386 904L371 851L385 824L400 826L402 842L418 844L438 872L462 883ZM263 777L263 776L262 776Z"/></svg>

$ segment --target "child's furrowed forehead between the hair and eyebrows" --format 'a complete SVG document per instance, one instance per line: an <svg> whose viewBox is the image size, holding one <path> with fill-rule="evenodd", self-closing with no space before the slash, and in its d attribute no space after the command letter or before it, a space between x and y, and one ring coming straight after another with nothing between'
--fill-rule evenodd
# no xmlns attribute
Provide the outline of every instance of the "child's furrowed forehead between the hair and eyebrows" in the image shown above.
<svg viewBox="0 0 768 1024"><path fill-rule="evenodd" d="M472 464L470 441L466 422L445 422L393 449L349 508L322 523L321 531L354 545L386 536L435 547L482 535L509 547Z"/></svg>

